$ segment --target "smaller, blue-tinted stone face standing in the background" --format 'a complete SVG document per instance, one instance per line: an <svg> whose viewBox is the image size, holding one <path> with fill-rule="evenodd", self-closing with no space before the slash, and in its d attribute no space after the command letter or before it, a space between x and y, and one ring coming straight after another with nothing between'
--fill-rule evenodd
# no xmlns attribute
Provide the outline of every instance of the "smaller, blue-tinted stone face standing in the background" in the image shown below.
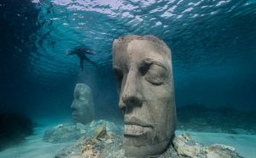
<svg viewBox="0 0 256 158"><path fill-rule="evenodd" d="M84 83L78 83L73 92L71 104L73 121L75 123L88 123L94 119L94 103L90 87Z"/></svg>

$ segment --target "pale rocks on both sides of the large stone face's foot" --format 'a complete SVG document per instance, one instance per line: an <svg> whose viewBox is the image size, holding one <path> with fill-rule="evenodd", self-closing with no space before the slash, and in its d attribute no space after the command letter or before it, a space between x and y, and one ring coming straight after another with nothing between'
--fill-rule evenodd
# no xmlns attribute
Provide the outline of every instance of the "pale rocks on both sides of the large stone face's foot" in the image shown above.
<svg viewBox="0 0 256 158"><path fill-rule="evenodd" d="M103 124L102 126L94 128L94 130L95 132L92 137L82 136L75 144L67 146L59 151L59 153L55 155L55 158L125 157L121 134L116 134L111 130L107 130ZM241 158L233 147L224 144L204 146L194 142L188 133L183 133L182 135L174 137L172 144L170 144L166 152L154 157Z"/></svg>

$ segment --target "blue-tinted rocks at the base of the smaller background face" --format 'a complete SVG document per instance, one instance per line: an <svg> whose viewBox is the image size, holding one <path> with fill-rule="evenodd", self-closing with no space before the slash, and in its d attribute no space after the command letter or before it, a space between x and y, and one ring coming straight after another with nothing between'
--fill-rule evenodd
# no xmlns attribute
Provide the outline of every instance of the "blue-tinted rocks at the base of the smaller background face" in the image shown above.
<svg viewBox="0 0 256 158"><path fill-rule="evenodd" d="M97 127L105 127L113 133L121 133L122 129L110 121L91 121L87 124L59 124L44 133L44 141L49 143L64 143L78 140L81 137L93 138Z"/></svg>

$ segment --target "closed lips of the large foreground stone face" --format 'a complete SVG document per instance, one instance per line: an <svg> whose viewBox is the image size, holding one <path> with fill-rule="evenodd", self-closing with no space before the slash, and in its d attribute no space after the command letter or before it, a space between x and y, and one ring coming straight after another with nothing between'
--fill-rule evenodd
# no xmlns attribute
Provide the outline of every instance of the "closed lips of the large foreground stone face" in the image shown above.
<svg viewBox="0 0 256 158"><path fill-rule="evenodd" d="M137 117L125 118L124 136L137 137L142 136L152 130L153 126L147 122L141 121Z"/></svg>

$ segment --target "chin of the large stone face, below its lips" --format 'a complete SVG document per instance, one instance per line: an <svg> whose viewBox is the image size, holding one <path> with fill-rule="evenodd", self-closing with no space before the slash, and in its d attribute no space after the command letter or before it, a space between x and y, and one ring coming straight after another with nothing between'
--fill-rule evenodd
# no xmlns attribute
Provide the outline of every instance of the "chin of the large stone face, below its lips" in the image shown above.
<svg viewBox="0 0 256 158"><path fill-rule="evenodd" d="M163 141L158 144L146 144L141 146L135 145L124 145L125 156L128 157L146 157L149 155L160 155L162 154L169 144L169 141Z"/></svg>

